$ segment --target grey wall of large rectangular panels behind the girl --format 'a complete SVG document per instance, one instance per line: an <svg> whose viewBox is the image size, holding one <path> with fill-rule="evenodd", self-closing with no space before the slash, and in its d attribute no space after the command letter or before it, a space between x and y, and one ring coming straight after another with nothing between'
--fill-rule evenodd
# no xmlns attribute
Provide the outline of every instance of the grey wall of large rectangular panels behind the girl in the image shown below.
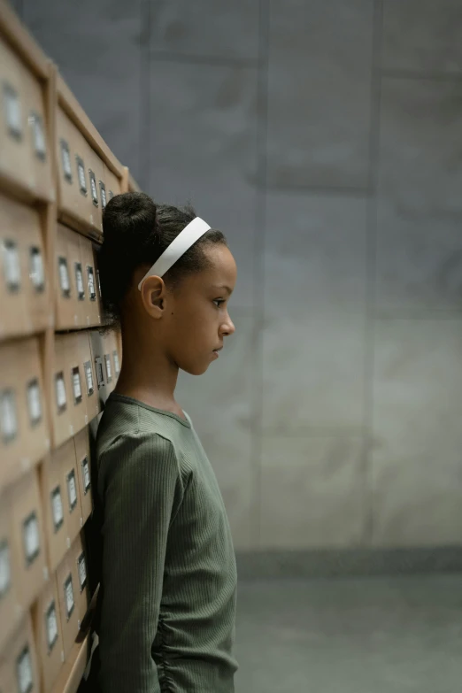
<svg viewBox="0 0 462 693"><path fill-rule="evenodd" d="M179 401L238 549L459 544L462 0L22 0L159 201L239 265Z"/></svg>

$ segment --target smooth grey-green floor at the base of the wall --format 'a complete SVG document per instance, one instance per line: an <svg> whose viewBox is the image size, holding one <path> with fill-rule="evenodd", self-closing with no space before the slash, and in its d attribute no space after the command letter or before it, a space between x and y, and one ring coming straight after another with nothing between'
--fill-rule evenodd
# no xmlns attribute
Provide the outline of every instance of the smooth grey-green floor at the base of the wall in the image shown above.
<svg viewBox="0 0 462 693"><path fill-rule="evenodd" d="M461 693L462 575L240 584L236 693Z"/></svg>

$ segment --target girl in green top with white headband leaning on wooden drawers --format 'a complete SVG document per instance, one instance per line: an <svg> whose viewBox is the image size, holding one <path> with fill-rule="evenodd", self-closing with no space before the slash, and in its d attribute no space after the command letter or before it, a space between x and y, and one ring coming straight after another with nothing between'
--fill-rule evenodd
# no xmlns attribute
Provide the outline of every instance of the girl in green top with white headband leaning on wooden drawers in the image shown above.
<svg viewBox="0 0 462 693"><path fill-rule="evenodd" d="M104 693L230 693L235 554L212 466L174 398L235 332L236 267L192 209L142 193L104 212L99 270L122 369L96 439Z"/></svg>

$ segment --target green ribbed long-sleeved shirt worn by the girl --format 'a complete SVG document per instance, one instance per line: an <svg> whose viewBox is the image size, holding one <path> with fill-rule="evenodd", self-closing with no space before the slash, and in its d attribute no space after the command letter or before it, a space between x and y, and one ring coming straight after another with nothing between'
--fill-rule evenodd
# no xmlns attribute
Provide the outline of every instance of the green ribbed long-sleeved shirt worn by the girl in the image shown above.
<svg viewBox="0 0 462 693"><path fill-rule="evenodd" d="M112 394L96 438L104 693L231 693L236 567L187 417Z"/></svg>

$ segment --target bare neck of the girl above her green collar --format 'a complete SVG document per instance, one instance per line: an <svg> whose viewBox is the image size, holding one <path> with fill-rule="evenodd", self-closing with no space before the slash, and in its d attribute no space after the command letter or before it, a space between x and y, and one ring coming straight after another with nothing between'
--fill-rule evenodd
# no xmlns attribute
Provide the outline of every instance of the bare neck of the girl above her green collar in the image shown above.
<svg viewBox="0 0 462 693"><path fill-rule="evenodd" d="M134 321L135 322L135 321ZM178 366L136 326L122 323L122 368L115 391L144 404L175 411Z"/></svg>

